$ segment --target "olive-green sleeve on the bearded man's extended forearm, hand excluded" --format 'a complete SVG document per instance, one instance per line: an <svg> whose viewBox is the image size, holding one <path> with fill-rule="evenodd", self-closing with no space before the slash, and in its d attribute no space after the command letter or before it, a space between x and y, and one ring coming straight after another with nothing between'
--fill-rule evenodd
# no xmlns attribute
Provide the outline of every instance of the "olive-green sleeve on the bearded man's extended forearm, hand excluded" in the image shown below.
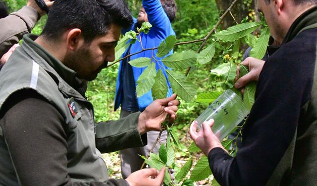
<svg viewBox="0 0 317 186"><path fill-rule="evenodd" d="M96 124L96 147L102 153L147 144L146 134L138 130L140 113L133 113L125 118Z"/></svg>

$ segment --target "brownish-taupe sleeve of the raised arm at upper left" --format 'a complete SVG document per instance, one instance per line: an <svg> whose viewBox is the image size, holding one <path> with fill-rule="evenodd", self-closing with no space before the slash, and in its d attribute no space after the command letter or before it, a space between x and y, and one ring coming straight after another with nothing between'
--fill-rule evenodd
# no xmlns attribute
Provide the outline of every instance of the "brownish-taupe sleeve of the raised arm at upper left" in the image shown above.
<svg viewBox="0 0 317 186"><path fill-rule="evenodd" d="M20 10L0 19L0 57L17 44L24 34L31 33L39 19L40 14L30 6L23 6Z"/></svg>

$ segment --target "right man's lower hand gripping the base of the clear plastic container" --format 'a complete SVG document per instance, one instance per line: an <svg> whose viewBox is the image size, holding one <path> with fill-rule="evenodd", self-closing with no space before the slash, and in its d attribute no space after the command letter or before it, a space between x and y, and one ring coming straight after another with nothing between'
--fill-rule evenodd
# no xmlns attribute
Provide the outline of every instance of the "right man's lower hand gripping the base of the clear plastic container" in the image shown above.
<svg viewBox="0 0 317 186"><path fill-rule="evenodd" d="M209 152L215 148L220 147L225 150L217 138L216 135L211 130L213 125L213 120L209 120L208 122L203 123L203 127L197 131L197 122L194 121L190 125L189 134L193 138L196 145L208 156ZM226 150L225 150L226 151Z"/></svg>

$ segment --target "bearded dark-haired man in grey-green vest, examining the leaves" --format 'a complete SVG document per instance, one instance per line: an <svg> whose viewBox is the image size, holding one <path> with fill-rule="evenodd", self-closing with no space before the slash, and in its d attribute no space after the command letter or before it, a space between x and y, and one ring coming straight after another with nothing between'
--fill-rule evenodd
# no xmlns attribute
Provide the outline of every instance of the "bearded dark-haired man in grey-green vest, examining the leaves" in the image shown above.
<svg viewBox="0 0 317 186"><path fill-rule="evenodd" d="M132 17L123 0L55 0L40 36L27 34L0 71L0 185L160 186L165 169L108 179L101 152L147 143L176 95L144 112L96 124L82 80L114 60L121 28Z"/></svg>

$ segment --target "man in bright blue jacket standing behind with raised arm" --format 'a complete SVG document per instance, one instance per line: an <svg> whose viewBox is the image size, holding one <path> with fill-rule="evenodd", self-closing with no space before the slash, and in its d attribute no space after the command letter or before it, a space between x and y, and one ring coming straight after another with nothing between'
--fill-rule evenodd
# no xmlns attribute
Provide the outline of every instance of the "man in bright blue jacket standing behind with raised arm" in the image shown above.
<svg viewBox="0 0 317 186"><path fill-rule="evenodd" d="M140 9L138 18L134 18L132 28L128 30L136 30L137 27L141 28L142 23L145 21L150 22L152 28L148 34L141 33L141 36L138 36L138 39L141 37L140 41L142 44L136 42L131 45L123 56L142 51L143 48L158 47L166 37L175 35L171 25L171 21L176 15L175 0L143 0L142 3L143 6ZM122 34L125 34L128 30L123 31ZM155 50L154 53L152 53L152 51L145 51L120 62L114 109L118 109L121 105L121 118L134 112L142 112L153 102L151 90L141 97L137 97L136 95L137 80L146 67L134 67L128 62L141 57L152 58L152 55L155 56L156 54L157 50ZM162 70L167 80L168 78L165 72L166 66L160 62L157 64L157 70L159 68ZM169 85L168 80L167 84ZM171 94L172 91L169 88L167 96L170 96ZM147 156L158 135L159 132L157 131L148 132L148 145L145 147L129 148L120 151L121 174L123 178L128 177L131 173L140 169L144 160L139 154ZM162 133L161 141L166 141L166 131ZM156 145L154 152L158 153L158 150L159 143Z"/></svg>

